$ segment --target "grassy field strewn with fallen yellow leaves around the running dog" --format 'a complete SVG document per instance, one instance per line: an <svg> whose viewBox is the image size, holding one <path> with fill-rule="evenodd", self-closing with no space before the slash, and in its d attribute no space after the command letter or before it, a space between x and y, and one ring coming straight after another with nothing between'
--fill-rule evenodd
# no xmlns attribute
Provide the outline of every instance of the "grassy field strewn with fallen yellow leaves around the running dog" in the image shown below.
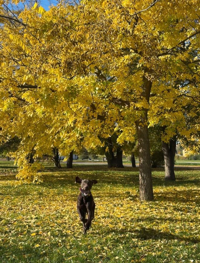
<svg viewBox="0 0 200 263"><path fill-rule="evenodd" d="M44 183L14 187L13 162L0 162L0 262L200 262L200 170L176 182L152 171L153 202L138 199L138 168L48 166ZM96 179L96 214L82 234L75 177Z"/></svg>

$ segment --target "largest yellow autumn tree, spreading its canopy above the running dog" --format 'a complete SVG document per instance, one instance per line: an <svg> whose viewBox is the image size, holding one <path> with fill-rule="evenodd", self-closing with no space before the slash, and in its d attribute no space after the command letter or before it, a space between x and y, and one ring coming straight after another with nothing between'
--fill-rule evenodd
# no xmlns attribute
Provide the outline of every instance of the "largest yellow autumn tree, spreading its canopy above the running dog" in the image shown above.
<svg viewBox="0 0 200 263"><path fill-rule="evenodd" d="M140 200L152 200L148 125L158 122L151 114L159 115L160 104L168 107L163 93L179 96L172 78L198 85L198 5L83 0L48 11L35 4L17 18L0 14L1 133L21 139L19 166L33 149L35 156L53 146L66 154L76 138L95 147L99 135L118 130L123 144L137 131Z"/></svg>

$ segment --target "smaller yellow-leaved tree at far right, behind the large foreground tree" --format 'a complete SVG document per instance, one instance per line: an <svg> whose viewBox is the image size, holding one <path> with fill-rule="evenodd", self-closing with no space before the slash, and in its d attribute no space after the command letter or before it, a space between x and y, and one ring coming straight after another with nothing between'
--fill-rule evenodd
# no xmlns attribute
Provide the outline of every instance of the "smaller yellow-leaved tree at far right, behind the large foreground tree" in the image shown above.
<svg viewBox="0 0 200 263"><path fill-rule="evenodd" d="M160 127L167 180L175 180L174 157L177 141L180 141L186 149L196 152L200 150L199 83L194 77L198 64L198 61L189 62L186 68L180 69L178 79L171 77L168 83L162 82L158 87L152 88L150 123L152 126ZM191 79L187 79L190 74ZM154 93L154 89L161 91L159 96Z"/></svg>

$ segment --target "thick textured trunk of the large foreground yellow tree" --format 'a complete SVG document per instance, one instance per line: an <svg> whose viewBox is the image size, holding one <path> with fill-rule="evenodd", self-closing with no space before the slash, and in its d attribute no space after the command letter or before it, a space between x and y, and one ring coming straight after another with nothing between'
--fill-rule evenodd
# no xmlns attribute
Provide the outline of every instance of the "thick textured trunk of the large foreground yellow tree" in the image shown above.
<svg viewBox="0 0 200 263"><path fill-rule="evenodd" d="M148 69L145 69L143 75L143 91L141 96L149 103L150 91L152 82L148 79ZM136 121L138 132L138 147L139 147L139 184L140 184L140 201L153 200L153 187L151 177L151 158L150 158L150 143L148 133L148 109L143 108L140 116L140 121Z"/></svg>

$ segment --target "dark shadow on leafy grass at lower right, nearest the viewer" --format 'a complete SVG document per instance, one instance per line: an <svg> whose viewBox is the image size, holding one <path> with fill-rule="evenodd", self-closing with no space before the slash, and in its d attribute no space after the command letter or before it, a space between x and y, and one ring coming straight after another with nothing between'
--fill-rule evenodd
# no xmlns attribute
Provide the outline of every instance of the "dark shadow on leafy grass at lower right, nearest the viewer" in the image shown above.
<svg viewBox="0 0 200 263"><path fill-rule="evenodd" d="M120 229L120 230L116 230L116 229L110 229L109 231L107 231L106 233L118 233L119 235L127 235L128 233L131 233L134 235L134 237L136 239L140 239L140 240L162 240L162 239L166 239L166 240L179 240L179 241L184 241L184 242L189 242L189 243L199 243L200 239L199 238L187 238L187 237L181 237L178 235L174 235L172 233L168 233L168 232L162 232L159 230L155 230L152 228L140 228L139 230L133 230L133 232L128 231L126 229Z"/></svg>

